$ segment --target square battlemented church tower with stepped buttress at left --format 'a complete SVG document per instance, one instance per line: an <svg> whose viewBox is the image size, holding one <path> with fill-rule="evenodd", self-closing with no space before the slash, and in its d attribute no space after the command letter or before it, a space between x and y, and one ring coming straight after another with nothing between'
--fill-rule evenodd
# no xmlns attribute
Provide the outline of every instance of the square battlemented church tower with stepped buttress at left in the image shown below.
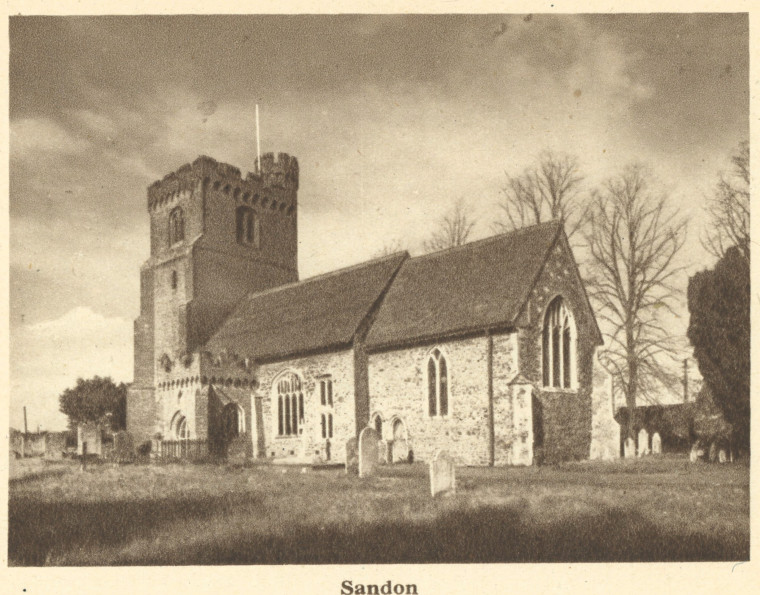
<svg viewBox="0 0 760 595"><path fill-rule="evenodd" d="M160 368L192 356L246 294L298 280L298 161L260 171L206 156L148 188L150 257L140 270L128 430L150 438Z"/></svg>

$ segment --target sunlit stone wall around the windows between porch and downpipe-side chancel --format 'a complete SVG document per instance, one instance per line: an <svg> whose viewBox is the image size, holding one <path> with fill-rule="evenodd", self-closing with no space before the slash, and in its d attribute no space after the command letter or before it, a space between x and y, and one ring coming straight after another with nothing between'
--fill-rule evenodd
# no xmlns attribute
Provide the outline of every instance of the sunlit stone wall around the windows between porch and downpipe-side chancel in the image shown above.
<svg viewBox="0 0 760 595"><path fill-rule="evenodd" d="M300 376L304 394L304 424L299 436L278 436L277 381L286 372ZM261 399L261 424L264 452L273 458L326 459L326 441L322 439L321 414L330 411L320 400L319 381L329 377L333 383L333 438L330 460L345 461L346 441L356 436L353 349L322 353L286 361L262 364L258 368L258 388L253 399ZM254 434L253 440L257 439ZM254 448L256 445L254 444Z"/></svg>

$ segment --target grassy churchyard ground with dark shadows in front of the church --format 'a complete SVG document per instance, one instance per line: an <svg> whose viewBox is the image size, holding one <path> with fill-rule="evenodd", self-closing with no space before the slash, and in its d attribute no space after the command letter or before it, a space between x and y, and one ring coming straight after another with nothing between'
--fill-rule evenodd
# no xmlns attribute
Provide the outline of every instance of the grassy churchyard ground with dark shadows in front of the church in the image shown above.
<svg viewBox="0 0 760 595"><path fill-rule="evenodd" d="M660 457L459 468L424 464L11 461L11 565L592 562L749 559L749 466Z"/></svg>

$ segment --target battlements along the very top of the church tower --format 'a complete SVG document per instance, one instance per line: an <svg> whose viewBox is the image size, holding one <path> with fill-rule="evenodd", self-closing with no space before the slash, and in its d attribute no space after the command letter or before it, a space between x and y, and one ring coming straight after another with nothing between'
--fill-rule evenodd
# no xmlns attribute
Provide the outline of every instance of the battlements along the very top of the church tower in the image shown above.
<svg viewBox="0 0 760 595"><path fill-rule="evenodd" d="M233 195L294 194L298 190L298 160L287 153L264 153L259 172L243 178L240 169L201 155L148 187L148 210L176 199L180 193L192 191L199 181L223 188Z"/></svg>

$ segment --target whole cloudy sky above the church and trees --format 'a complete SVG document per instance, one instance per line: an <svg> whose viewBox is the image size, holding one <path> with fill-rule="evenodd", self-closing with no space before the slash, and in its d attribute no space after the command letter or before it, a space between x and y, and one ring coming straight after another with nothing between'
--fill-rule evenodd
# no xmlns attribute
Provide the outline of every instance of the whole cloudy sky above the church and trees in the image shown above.
<svg viewBox="0 0 760 595"><path fill-rule="evenodd" d="M299 160L301 278L419 253L458 200L491 235L543 149L584 192L649 166L693 273L748 61L742 14L12 17L10 423L62 429L77 377L131 381L146 188L201 154L254 169L257 103L262 151Z"/></svg>

